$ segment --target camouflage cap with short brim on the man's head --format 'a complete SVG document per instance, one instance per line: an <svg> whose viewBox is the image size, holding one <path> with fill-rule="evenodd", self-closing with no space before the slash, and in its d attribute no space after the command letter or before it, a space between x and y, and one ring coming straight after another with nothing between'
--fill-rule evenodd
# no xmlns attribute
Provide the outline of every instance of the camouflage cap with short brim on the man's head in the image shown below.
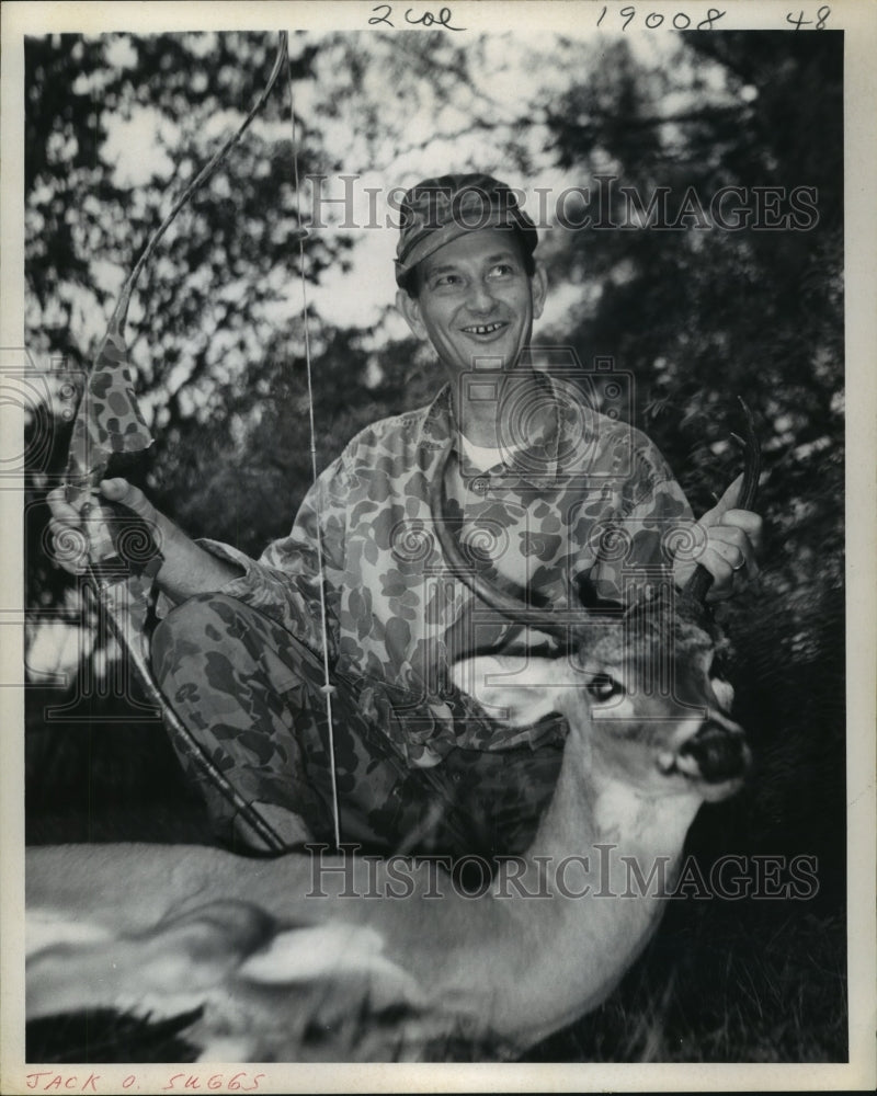
<svg viewBox="0 0 877 1096"><path fill-rule="evenodd" d="M514 191L481 172L424 179L407 192L400 213L396 282L402 287L418 263L464 232L513 228L527 254L538 242L536 226L519 206Z"/></svg>

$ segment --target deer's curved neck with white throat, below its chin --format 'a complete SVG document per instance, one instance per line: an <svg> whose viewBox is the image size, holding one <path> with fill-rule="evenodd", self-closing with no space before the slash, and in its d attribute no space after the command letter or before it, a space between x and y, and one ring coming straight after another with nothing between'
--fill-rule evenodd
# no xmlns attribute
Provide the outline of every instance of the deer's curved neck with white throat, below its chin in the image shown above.
<svg viewBox="0 0 877 1096"><path fill-rule="evenodd" d="M699 806L694 795L646 795L582 738L570 732L554 799L517 865L526 897L510 900L500 872L498 901L459 962L465 989L464 975L453 983L472 1014L522 1046L595 1007L629 969L654 932Z"/></svg>

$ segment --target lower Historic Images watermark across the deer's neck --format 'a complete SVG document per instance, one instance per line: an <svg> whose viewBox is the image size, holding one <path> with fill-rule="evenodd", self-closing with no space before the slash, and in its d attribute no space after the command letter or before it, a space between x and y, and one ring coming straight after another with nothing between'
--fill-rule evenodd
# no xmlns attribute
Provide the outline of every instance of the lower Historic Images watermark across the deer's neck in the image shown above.
<svg viewBox="0 0 877 1096"><path fill-rule="evenodd" d="M588 854L503 856L491 863L478 854L449 856L378 856L342 844L309 844L310 889L307 898L414 899L675 899L795 900L819 893L816 856L727 854L704 865L687 856L681 865L670 856L647 863L625 855L612 843L595 843Z"/></svg>

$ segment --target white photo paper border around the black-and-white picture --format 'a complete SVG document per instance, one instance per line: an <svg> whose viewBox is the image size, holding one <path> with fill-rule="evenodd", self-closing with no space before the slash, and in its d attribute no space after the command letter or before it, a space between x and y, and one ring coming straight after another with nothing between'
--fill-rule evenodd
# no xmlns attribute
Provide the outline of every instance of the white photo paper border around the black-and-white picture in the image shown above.
<svg viewBox="0 0 877 1096"><path fill-rule="evenodd" d="M368 33L371 2L254 2L215 4L22 3L7 4L2 16L2 317L0 347L23 345L24 230L23 209L23 38L49 32L104 33L158 31L294 28L344 30ZM386 5L384 5L386 7ZM394 5L401 11L409 4ZM604 4L586 2L521 2L515 4L452 2L422 4L453 9L454 16L472 33L513 30L558 30L595 22ZM615 13L618 3L605 7ZM641 7L646 10L646 5ZM654 7L654 5L652 5ZM662 7L668 7L663 4ZM706 3L680 0L674 10L702 19ZM785 30L794 8L815 13L822 5L807 0L743 2L724 0L713 5L726 12L724 25L733 28ZM875 1085L875 621L877 583L877 218L874 180L877 179L874 104L877 102L877 5L853 0L831 3L832 27L845 34L845 308L846 373L850 399L846 411L847 465L847 827L850 948L850 1062L783 1065L624 1065L556 1064L487 1065L263 1065L262 1093L280 1092L462 1092L462 1091L778 1091L873 1089ZM381 27L388 33L386 27ZM399 30L398 33L405 33ZM654 33L663 33L656 31ZM720 33L720 32L716 32ZM789 33L793 32L789 28ZM801 32L812 33L812 32ZM0 429L18 436L22 424L15 409L0 409ZM23 665L23 544L20 493L0 491L0 527L13 530L2 539L0 621L3 628L4 681L15 680ZM0 1088L5 1093L34 1089L25 1077L34 1070L23 1053L23 846L24 770L23 689L0 690L2 703L2 996L0 996ZM247 1068L252 1075L252 1066ZM232 1071L208 1065L179 1068L186 1075L207 1078ZM88 1077L88 1068L67 1068L66 1074ZM99 1092L121 1092L122 1078L136 1074L132 1092L159 1092L174 1073L169 1065L99 1066L105 1078ZM178 1071L179 1072L179 1071ZM81 1091L73 1088L72 1091ZM227 1091L227 1089L223 1089Z"/></svg>

